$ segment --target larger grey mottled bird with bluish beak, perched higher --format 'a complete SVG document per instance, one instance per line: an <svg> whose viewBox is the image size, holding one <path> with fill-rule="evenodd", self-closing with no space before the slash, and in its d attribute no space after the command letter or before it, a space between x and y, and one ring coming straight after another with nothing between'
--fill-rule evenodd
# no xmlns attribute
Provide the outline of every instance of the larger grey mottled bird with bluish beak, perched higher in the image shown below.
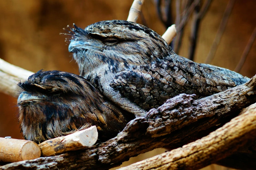
<svg viewBox="0 0 256 170"><path fill-rule="evenodd" d="M181 93L200 99L249 80L175 54L159 34L135 22L100 21L85 29L73 26L67 33L69 52L80 76L136 117Z"/></svg>

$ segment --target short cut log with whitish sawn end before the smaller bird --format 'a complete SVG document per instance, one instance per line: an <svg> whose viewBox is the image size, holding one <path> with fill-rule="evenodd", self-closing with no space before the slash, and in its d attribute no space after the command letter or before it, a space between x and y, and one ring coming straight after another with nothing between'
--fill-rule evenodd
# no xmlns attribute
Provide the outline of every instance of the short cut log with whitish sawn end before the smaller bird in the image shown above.
<svg viewBox="0 0 256 170"><path fill-rule="evenodd" d="M39 144L42 156L51 156L64 153L70 150L84 149L91 147L98 139L96 126L77 131L70 135L60 136L54 139L46 140Z"/></svg>

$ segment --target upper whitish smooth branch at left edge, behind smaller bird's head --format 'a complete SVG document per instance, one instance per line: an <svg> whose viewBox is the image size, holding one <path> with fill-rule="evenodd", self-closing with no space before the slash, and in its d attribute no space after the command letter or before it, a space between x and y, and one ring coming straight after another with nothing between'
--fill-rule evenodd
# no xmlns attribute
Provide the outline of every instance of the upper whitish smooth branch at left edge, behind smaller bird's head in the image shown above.
<svg viewBox="0 0 256 170"><path fill-rule="evenodd" d="M1 58L0 58L0 70L2 72L5 72L11 76L14 76L20 79L27 79L30 75L34 74L31 71L25 70L16 65L12 65Z"/></svg>

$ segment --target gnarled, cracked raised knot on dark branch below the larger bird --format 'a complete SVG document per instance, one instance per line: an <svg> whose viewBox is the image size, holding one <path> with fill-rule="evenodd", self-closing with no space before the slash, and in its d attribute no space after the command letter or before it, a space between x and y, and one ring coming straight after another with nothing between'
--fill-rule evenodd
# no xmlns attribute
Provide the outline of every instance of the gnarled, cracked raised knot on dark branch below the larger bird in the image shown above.
<svg viewBox="0 0 256 170"><path fill-rule="evenodd" d="M168 99L157 109L151 109L145 117L131 120L118 134L118 140L134 140L141 135L149 137L167 135L188 122L196 121L196 117L193 116L195 107L192 106L195 96L195 94L180 94Z"/></svg>

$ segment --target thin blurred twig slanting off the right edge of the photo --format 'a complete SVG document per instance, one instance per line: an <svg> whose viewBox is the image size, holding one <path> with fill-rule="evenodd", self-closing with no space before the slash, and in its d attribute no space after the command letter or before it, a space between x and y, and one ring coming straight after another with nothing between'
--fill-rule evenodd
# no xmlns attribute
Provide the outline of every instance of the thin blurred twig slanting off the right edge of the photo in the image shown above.
<svg viewBox="0 0 256 170"><path fill-rule="evenodd" d="M240 61L238 62L238 64L235 67L235 70L234 70L235 72L238 73L241 70L241 68L242 68L242 66L243 66L243 64L244 64L244 62L246 60L246 57L247 57L247 55L248 55L248 53L249 53L249 51L251 49L251 46L252 46L252 44L253 44L253 42L255 40L255 36L256 36L256 27L254 28L254 30L253 30L253 32L252 32L252 34L250 36L250 39L249 39L249 41L248 41L248 43L247 43L247 45L245 47L245 50L243 51L243 54L242 54L242 57L241 57Z"/></svg>

